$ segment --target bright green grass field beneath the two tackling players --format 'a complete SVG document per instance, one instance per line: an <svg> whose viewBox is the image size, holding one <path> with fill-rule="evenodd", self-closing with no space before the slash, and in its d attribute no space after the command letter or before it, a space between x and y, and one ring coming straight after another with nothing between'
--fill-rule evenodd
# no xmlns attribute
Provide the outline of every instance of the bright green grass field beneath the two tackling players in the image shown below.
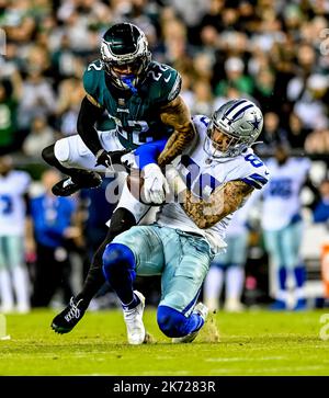
<svg viewBox="0 0 329 398"><path fill-rule="evenodd" d="M149 309L145 325L156 341L139 346L126 343L118 310L88 312L64 336L49 328L52 310L8 315L11 340L0 341L0 375L329 375L329 328L328 340L319 337L324 314L218 312L193 343L171 344Z"/></svg>

